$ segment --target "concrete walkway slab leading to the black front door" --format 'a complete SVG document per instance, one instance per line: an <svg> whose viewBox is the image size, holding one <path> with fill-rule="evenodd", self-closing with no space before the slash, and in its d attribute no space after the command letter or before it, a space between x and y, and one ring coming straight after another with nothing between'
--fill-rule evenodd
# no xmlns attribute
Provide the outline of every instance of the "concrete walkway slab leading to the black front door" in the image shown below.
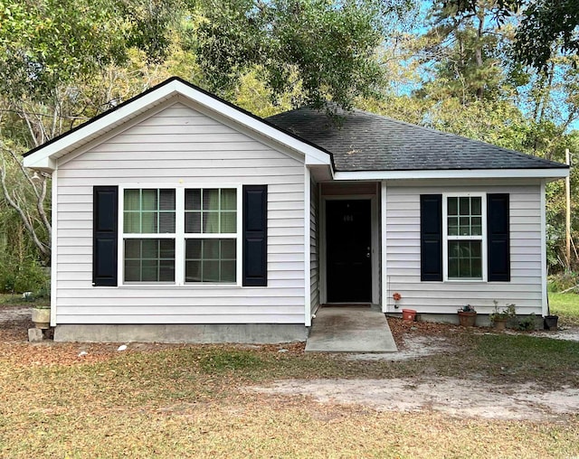
<svg viewBox="0 0 579 459"><path fill-rule="evenodd" d="M396 352L384 313L371 306L323 306L312 321L307 352Z"/></svg>

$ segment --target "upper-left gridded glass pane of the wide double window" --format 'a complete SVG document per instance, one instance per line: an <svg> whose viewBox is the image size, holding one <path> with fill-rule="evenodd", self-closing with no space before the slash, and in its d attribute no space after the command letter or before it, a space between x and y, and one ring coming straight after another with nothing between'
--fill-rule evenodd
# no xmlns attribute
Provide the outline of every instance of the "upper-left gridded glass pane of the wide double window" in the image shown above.
<svg viewBox="0 0 579 459"><path fill-rule="evenodd" d="M175 233L175 190L125 190L125 233Z"/></svg>

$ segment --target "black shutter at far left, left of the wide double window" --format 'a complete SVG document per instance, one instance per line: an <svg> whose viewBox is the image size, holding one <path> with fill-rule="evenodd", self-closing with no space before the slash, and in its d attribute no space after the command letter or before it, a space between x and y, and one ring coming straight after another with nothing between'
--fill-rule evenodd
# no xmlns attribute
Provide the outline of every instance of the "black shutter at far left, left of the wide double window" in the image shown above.
<svg viewBox="0 0 579 459"><path fill-rule="evenodd" d="M92 197L92 285L117 286L119 187L95 186Z"/></svg>

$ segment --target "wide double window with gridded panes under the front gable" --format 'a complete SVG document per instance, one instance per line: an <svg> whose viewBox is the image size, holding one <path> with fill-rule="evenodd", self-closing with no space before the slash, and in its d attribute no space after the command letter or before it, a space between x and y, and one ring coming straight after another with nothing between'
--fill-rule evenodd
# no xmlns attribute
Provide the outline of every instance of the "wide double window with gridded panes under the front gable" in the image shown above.
<svg viewBox="0 0 579 459"><path fill-rule="evenodd" d="M124 282L237 282L237 189L125 189Z"/></svg>

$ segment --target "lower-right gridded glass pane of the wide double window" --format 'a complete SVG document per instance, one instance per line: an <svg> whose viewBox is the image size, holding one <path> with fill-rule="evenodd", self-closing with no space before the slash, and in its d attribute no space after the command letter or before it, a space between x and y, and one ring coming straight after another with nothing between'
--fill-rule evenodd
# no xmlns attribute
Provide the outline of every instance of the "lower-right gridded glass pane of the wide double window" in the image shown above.
<svg viewBox="0 0 579 459"><path fill-rule="evenodd" d="M235 283L236 239L185 239L185 282Z"/></svg>

